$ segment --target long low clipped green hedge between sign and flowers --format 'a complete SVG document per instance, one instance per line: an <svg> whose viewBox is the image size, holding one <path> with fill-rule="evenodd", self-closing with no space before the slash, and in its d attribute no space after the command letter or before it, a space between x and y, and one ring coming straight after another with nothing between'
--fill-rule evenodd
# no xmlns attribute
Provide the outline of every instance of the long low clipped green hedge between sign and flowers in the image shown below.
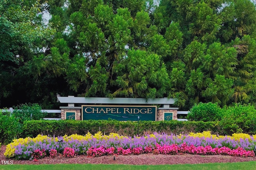
<svg viewBox="0 0 256 170"><path fill-rule="evenodd" d="M138 128L139 126L139 128ZM62 136L80 134L85 135L102 131L109 133L118 133L120 135L139 135L158 133L189 133L212 131L217 133L216 122L203 121L116 121L116 120L32 120L25 121L23 126L24 137L36 137L38 134L50 136Z"/></svg>

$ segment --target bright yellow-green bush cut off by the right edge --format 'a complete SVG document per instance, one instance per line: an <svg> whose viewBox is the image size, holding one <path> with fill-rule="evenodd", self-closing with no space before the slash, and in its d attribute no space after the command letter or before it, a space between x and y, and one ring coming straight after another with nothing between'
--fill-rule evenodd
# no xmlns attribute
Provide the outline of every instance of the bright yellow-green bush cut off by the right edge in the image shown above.
<svg viewBox="0 0 256 170"><path fill-rule="evenodd" d="M223 133L256 134L256 109L251 104L235 104L233 107L223 108L224 115L219 125Z"/></svg>

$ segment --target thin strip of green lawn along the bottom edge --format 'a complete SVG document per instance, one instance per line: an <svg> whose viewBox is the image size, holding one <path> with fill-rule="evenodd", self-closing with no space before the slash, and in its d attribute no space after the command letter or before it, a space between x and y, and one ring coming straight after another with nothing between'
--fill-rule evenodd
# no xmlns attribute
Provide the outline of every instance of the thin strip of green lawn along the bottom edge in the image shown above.
<svg viewBox="0 0 256 170"><path fill-rule="evenodd" d="M122 165L122 164L40 164L1 165L0 170L255 170L256 161L175 165Z"/></svg>

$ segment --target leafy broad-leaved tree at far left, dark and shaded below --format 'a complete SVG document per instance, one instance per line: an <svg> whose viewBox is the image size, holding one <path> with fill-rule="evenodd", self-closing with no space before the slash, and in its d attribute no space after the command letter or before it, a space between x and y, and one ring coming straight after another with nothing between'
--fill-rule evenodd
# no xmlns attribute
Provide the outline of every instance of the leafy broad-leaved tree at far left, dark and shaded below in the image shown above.
<svg viewBox="0 0 256 170"><path fill-rule="evenodd" d="M42 6L36 0L1 0L0 106L26 102L23 95L26 96L25 84L30 77L21 69L42 51L44 42L54 33L42 22Z"/></svg>

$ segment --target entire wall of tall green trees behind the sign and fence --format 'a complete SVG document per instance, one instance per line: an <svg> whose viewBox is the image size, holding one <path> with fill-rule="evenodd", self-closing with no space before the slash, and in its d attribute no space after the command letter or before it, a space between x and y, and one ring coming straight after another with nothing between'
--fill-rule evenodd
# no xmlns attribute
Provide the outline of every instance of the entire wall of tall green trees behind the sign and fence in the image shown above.
<svg viewBox="0 0 256 170"><path fill-rule="evenodd" d="M255 104L250 0L1 0L0 106L56 96ZM44 20L46 14L49 20Z"/></svg>

